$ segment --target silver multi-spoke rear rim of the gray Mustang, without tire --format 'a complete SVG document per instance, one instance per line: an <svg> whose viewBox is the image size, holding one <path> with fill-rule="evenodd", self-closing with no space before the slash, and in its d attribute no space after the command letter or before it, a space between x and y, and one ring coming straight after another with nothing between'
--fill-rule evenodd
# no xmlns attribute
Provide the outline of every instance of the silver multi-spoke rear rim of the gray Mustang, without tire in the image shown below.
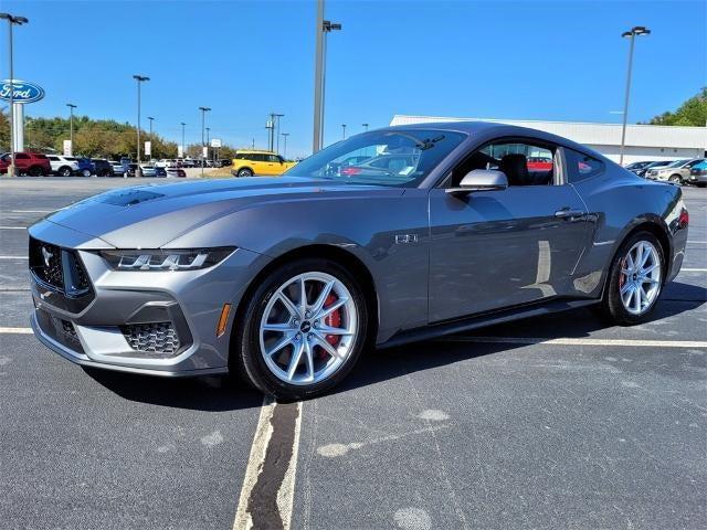
<svg viewBox="0 0 707 530"><path fill-rule="evenodd" d="M639 241L621 261L619 289L632 315L647 311L661 293L661 255L650 241Z"/></svg>

